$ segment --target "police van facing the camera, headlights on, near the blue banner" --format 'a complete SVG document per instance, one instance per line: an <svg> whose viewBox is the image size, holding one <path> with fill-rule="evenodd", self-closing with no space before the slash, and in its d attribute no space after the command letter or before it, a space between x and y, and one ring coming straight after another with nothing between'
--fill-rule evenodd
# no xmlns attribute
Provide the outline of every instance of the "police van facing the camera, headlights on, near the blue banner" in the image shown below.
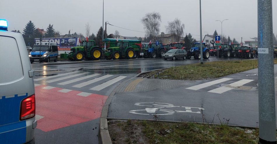
<svg viewBox="0 0 277 144"><path fill-rule="evenodd" d="M53 60L57 62L58 59L58 46L55 42L36 42L29 53L30 62L35 60L50 62Z"/></svg>

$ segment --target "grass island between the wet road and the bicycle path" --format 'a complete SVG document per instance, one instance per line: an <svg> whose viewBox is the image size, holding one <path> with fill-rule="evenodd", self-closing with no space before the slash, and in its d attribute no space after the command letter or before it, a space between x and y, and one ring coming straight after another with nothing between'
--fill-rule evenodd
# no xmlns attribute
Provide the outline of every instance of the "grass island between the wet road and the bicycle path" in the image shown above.
<svg viewBox="0 0 277 144"><path fill-rule="evenodd" d="M277 64L277 59L274 59L274 64ZM257 67L258 60L216 61L152 71L145 76L151 78L154 75L154 78L172 80L203 80L240 73Z"/></svg>

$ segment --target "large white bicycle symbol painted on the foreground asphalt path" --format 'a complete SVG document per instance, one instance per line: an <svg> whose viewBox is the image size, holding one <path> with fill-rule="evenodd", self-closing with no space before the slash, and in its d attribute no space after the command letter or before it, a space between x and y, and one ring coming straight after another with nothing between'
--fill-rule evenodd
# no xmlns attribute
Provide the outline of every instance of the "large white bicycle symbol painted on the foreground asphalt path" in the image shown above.
<svg viewBox="0 0 277 144"><path fill-rule="evenodd" d="M181 107L175 106L168 103L160 102L140 102L134 105L146 107L145 109L138 109L129 111L132 114L142 114L142 115L171 115L175 113L189 112L200 114L199 110L205 110L201 107ZM173 108L173 110L171 109ZM176 110L178 108L178 110Z"/></svg>

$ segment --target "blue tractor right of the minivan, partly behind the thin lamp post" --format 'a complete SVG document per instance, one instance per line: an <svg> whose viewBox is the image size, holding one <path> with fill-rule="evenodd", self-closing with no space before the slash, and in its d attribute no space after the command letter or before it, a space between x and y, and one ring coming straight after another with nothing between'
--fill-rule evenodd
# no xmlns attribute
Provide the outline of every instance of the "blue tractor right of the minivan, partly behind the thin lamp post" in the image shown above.
<svg viewBox="0 0 277 144"><path fill-rule="evenodd" d="M188 51L187 53L187 58L191 58L192 56L194 59L199 60L201 58L200 55L200 42L194 43L194 46ZM202 43L202 48L203 48L203 58L204 59L209 59L210 57L210 50L206 48L206 43Z"/></svg>

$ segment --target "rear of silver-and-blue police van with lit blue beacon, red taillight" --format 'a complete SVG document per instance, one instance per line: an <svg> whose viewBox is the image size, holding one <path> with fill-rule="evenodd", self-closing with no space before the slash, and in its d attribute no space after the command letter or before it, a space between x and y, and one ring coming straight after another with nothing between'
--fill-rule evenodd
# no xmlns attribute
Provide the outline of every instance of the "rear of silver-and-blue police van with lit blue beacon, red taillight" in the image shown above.
<svg viewBox="0 0 277 144"><path fill-rule="evenodd" d="M7 30L0 19L0 143L34 143L34 71L22 35Z"/></svg>

